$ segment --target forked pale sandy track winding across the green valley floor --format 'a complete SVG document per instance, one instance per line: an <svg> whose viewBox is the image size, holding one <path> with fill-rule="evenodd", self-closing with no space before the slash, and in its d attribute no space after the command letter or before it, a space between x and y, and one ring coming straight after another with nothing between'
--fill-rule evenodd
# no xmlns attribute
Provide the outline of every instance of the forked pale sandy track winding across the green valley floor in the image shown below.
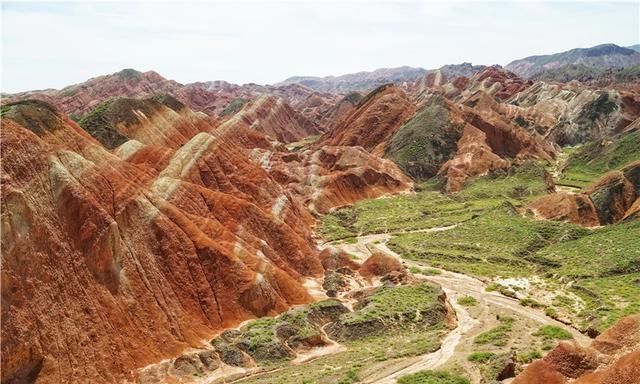
<svg viewBox="0 0 640 384"><path fill-rule="evenodd" d="M449 230L454 227L455 225L449 227L437 227L429 230L419 230L419 232L437 232ZM394 234L386 233L358 236L355 244L340 244L338 246L344 251L354 254L362 259L366 259L373 252L377 251L401 260L407 267L424 267L424 265L418 262L403 259L399 254L387 246L387 241L393 235ZM334 244L333 246L337 245ZM437 351L408 359L407 364L404 367L395 368L392 372L381 370L370 377L364 378L364 383L392 384L401 376L425 369L436 369L447 363L452 357L454 357L459 347L463 348L464 344L469 343L473 337L488 329L487 325L491 324L491 321L495 319L494 311L486 310L489 306L494 306L516 313L519 316L531 319L540 325L555 325L567 329L571 332L574 339L581 345L586 346L591 342L589 337L578 332L576 329L567 327L565 324L546 316L541 310L523 307L520 305L518 300L503 296L497 292L486 292L485 284L476 278L443 269L438 270L441 272L439 275L428 276L424 279L439 284L447 294L449 303L456 313L456 328L451 330L451 332L442 340L441 347ZM479 301L479 305L483 306L483 310L476 318L472 317L465 307L457 303L458 297L466 295L474 296ZM477 383L480 380L479 377L474 377L472 379L472 382L474 383Z"/></svg>

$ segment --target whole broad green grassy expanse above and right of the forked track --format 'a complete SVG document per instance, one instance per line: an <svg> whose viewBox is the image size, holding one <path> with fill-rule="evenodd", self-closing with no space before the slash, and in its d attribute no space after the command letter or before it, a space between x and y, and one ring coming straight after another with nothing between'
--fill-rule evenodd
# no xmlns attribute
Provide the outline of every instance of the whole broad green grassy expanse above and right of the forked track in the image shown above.
<svg viewBox="0 0 640 384"><path fill-rule="evenodd" d="M617 150L605 151L610 161L596 158L582 169L597 177L605 164L621 166L627 158L620 154L640 148L631 151L632 139L638 140L637 133L618 140ZM320 230L328 240L393 233L387 245L425 266L492 278L536 275L550 290L559 279L571 282L566 288L575 298L567 298L571 304L542 303L536 297L525 297L522 304L544 308L553 317L562 312L582 329L603 330L622 316L640 313L640 221L586 229L528 217L527 204L546 193L544 179L530 163L508 174L475 178L455 195L423 183L413 195L362 201L326 215ZM494 289L514 295L499 284Z"/></svg>

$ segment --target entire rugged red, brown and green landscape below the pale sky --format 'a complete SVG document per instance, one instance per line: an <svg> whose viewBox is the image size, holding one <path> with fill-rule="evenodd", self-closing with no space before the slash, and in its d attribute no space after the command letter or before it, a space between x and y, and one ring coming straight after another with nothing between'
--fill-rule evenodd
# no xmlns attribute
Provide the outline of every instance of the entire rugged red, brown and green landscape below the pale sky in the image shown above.
<svg viewBox="0 0 640 384"><path fill-rule="evenodd" d="M640 384L634 47L0 121L3 384Z"/></svg>

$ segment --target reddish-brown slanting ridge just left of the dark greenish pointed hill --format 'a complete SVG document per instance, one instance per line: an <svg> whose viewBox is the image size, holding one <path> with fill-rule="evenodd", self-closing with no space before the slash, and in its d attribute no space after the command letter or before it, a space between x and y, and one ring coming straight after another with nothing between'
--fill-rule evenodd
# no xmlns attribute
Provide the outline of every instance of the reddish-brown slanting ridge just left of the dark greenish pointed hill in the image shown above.
<svg viewBox="0 0 640 384"><path fill-rule="evenodd" d="M389 138L415 111L415 105L400 88L383 85L362 99L342 124L321 138L319 145L361 146L382 155Z"/></svg>

